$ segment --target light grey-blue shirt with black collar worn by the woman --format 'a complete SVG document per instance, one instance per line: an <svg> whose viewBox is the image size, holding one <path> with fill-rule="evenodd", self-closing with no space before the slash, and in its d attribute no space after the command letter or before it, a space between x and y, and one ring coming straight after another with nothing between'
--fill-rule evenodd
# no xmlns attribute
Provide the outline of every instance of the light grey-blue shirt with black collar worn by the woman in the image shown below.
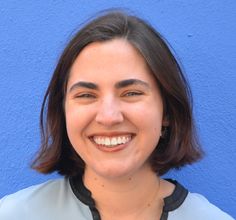
<svg viewBox="0 0 236 220"><path fill-rule="evenodd" d="M233 220L200 194L177 181L164 199L161 220ZM81 178L50 180L0 200L0 220L100 220L91 193Z"/></svg>

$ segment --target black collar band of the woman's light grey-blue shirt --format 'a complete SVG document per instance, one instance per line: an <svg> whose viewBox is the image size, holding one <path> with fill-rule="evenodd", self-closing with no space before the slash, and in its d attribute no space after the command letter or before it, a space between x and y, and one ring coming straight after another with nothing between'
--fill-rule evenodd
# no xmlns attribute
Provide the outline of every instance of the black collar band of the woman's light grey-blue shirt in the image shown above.
<svg viewBox="0 0 236 220"><path fill-rule="evenodd" d="M188 190L175 180L166 179L175 184L174 192L164 198L164 207L160 220L166 220L168 213L177 209L188 195ZM96 208L95 201L92 198L91 192L85 187L82 176L69 178L70 186L75 196L85 205L87 205L92 213L93 220L101 220L100 214Z"/></svg>

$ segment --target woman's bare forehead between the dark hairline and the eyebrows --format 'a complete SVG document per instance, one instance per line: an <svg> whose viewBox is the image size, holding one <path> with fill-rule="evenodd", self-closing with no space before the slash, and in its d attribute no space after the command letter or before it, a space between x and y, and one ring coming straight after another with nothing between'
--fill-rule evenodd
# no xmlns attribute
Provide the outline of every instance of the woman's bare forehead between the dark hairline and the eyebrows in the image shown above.
<svg viewBox="0 0 236 220"><path fill-rule="evenodd" d="M94 42L85 47L71 67L69 81L96 82L101 78L106 81L155 79L142 55L123 39Z"/></svg>

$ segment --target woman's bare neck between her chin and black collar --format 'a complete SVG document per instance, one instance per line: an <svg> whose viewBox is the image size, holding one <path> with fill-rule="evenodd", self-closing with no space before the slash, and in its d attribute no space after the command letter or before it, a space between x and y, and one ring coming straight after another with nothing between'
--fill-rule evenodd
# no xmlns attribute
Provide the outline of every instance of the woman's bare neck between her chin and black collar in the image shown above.
<svg viewBox="0 0 236 220"><path fill-rule="evenodd" d="M103 220L158 219L161 214L161 181L149 167L130 176L109 179L86 169L84 184Z"/></svg>

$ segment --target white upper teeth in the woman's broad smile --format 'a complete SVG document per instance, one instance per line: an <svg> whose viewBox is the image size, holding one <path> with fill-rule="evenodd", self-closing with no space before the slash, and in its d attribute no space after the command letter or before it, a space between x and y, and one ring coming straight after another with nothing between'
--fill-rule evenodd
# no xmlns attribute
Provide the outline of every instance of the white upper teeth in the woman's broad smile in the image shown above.
<svg viewBox="0 0 236 220"><path fill-rule="evenodd" d="M119 144L125 144L131 140L131 135L117 136L117 137L103 137L94 136L93 140L98 145L104 145L106 147L113 147Z"/></svg>

